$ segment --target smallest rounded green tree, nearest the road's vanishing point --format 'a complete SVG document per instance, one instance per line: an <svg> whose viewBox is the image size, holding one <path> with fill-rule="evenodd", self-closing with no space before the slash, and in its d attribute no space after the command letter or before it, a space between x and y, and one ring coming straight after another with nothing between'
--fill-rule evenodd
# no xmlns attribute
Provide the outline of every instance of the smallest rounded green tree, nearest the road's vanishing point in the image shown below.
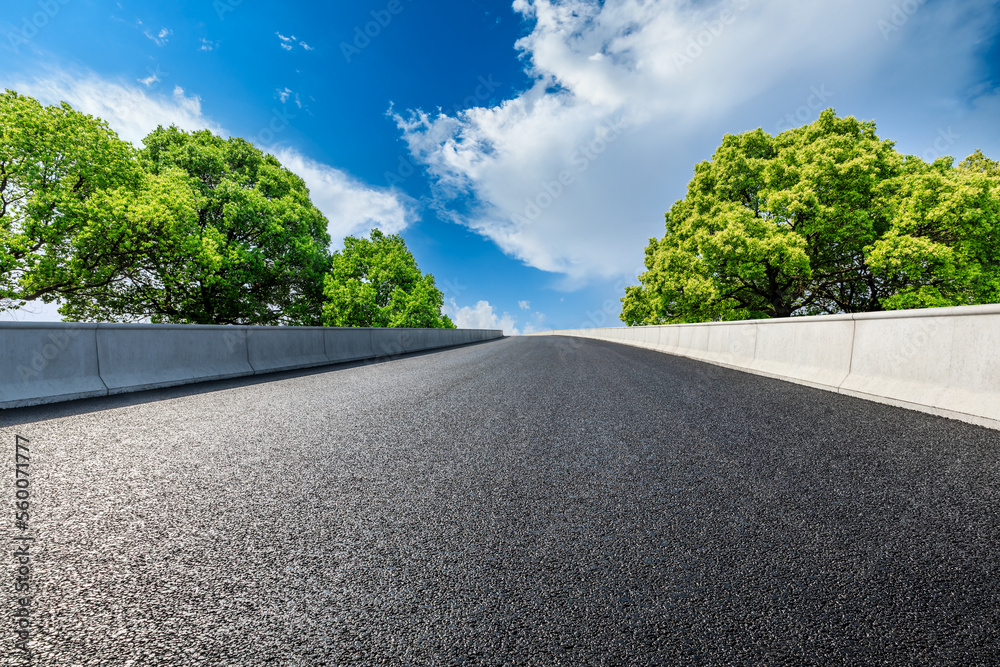
<svg viewBox="0 0 1000 667"><path fill-rule="evenodd" d="M327 326L455 328L441 313L444 295L434 276L421 275L398 234L373 229L370 239L344 239L344 249L333 253L323 295Z"/></svg>

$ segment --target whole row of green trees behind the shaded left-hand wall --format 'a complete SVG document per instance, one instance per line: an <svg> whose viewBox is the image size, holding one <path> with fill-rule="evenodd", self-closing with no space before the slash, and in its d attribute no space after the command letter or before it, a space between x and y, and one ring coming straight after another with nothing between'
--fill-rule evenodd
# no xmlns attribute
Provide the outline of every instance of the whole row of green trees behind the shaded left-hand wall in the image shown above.
<svg viewBox="0 0 1000 667"><path fill-rule="evenodd" d="M305 182L240 138L141 149L68 104L0 95L0 310L65 320L454 327L397 235L329 252Z"/></svg>

